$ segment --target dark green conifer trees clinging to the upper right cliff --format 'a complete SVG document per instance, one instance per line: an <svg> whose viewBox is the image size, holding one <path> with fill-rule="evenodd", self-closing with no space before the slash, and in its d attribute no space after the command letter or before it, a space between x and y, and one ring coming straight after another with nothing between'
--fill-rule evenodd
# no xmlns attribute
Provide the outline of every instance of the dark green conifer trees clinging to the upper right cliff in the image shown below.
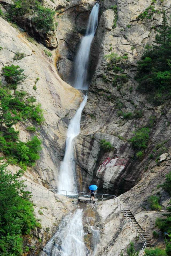
<svg viewBox="0 0 171 256"><path fill-rule="evenodd" d="M157 28L155 45L147 46L141 61L138 61L138 90L148 93L154 105L160 105L171 98L171 28L168 26L165 11L162 25Z"/></svg>

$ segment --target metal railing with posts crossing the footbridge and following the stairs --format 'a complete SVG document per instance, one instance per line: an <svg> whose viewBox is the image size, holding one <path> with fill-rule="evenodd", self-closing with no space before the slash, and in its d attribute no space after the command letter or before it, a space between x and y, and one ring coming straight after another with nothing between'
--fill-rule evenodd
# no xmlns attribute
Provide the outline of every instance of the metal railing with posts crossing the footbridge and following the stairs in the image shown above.
<svg viewBox="0 0 171 256"><path fill-rule="evenodd" d="M37 197L47 197L49 198L49 196L55 196L55 194L58 194L58 195L65 195L66 198L67 197L70 197L70 198L78 198L80 195L87 198L87 197L90 197L90 193L87 193L87 192L80 192L80 191L68 191L68 190L57 190L57 189L42 189L41 187L39 187L38 185L30 182L29 180L27 179L24 179L24 178L20 178L20 180L25 180L26 182L30 183L30 186L28 186L27 184L27 190L28 188L30 188L30 192L33 194L34 191L36 191L36 195L34 196L37 196ZM36 189L35 189L36 187ZM60 192L59 192L60 191ZM37 195L37 192L40 194L40 195ZM49 193L50 192L50 193ZM144 236L142 235L141 231L135 226L134 222L132 221L132 219L130 218L129 214L127 213L127 211L125 210L125 208L123 207L123 204L121 204L121 201L116 197L116 195L109 195L109 194L99 194L99 193L95 193L96 195L96 198L99 199L99 201L101 200L102 201L102 204L103 204L103 201L105 200L109 200L109 199L114 199L114 203L117 202L117 207L120 207L120 211L125 215L126 219L128 220L129 222L129 225L131 223L132 225L132 231L133 231L133 228L135 228L136 230L136 236L137 236L137 232L139 233L139 238L141 239L142 241L142 244L143 244L143 247L139 253L139 256L142 256L145 249L146 249L146 246L147 246L147 241L146 239L144 238Z"/></svg>

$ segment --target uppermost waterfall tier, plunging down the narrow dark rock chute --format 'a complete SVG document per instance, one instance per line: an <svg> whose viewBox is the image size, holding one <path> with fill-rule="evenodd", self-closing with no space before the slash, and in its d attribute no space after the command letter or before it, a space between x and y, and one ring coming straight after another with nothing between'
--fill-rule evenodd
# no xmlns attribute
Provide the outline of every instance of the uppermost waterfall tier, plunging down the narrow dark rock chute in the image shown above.
<svg viewBox="0 0 171 256"><path fill-rule="evenodd" d="M76 55L75 60L75 81L74 87L76 89L87 90L87 71L88 71L88 61L90 56L90 47L95 35L97 25L98 25L98 13L99 4L96 3L93 7L86 30L86 35L81 39L81 44Z"/></svg>

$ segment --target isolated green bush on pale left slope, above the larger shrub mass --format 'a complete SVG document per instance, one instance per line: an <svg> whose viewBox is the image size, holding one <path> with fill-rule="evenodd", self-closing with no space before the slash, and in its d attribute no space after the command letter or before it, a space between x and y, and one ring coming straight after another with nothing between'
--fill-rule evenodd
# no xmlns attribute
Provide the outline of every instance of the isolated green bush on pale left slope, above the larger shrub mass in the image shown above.
<svg viewBox="0 0 171 256"><path fill-rule="evenodd" d="M11 89L16 89L17 84L23 82L26 79L23 71L24 69L21 69L18 65L5 66L2 68L2 75L5 76L5 79L10 84L9 87Z"/></svg>

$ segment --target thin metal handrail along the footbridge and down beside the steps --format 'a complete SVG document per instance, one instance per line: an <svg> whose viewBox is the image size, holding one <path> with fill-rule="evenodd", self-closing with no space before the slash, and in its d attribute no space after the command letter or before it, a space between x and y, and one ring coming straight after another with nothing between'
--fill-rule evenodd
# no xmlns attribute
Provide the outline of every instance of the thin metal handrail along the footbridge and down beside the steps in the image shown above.
<svg viewBox="0 0 171 256"><path fill-rule="evenodd" d="M13 172L12 172L13 173ZM13 173L14 174L14 173ZM67 190L57 190L57 189L42 189L41 187L39 187L38 185L36 185L36 184L34 184L34 183L32 183L32 182L30 182L29 180L27 180L27 179L24 179L24 178L21 178L20 177L20 179L22 179L22 180L25 180L25 181L27 181L27 182L29 182L30 184L31 184L31 193L32 193L32 185L34 185L34 186L36 186L36 187L38 187L40 190L42 190L42 197L44 197L45 196L45 193L43 193L43 191L48 191L48 193L46 194L46 195L48 195L48 198L49 198L49 191L54 191L54 192L52 192L53 193L53 195L55 196L55 194L59 194L59 195L65 195L66 197L67 196L72 196L72 195L67 195L67 192L68 193L76 193L75 194L75 196L78 196L79 197L79 194L78 193L81 193L81 194L90 194L90 193L87 193L87 192L80 192L80 191L67 191ZM28 185L27 185L28 186ZM30 187L30 186L28 186L28 187ZM38 191L38 190L36 190L36 189L33 189L33 190L35 190L35 191ZM60 194L60 193L56 193L56 191L63 191L63 192L65 192L66 194ZM38 192L40 192L40 191L38 191ZM40 192L41 193L41 192ZM120 210L121 210L121 208L122 208L122 210L121 210L121 212L123 212L123 213L125 213L126 214L126 219L129 221L129 223L130 222L132 222L132 227L134 227L135 229L136 229L136 236L137 236L137 231L139 232L139 234L140 234L140 239L142 240L142 243L143 243L143 247L142 247L142 249L141 249L141 251L140 251L140 253L139 253L139 256L142 256L143 255L143 253L144 253L144 250L146 249L146 246L147 246L147 241L146 241L146 239L144 238L144 236L142 235L142 233L141 233L141 231L135 226L135 224L133 223L133 221L132 221L132 219L130 218L130 216L129 216L129 214L127 213L127 211L125 210L125 208L123 207L123 204L121 204L121 201L120 200L118 200L118 198L116 197L116 195L110 195L110 194L100 194L100 193L95 193L96 195L102 195L102 197L96 197L96 198L98 198L98 199L102 199L102 204L103 204L103 200L104 199L113 199L113 198L105 198L105 197L103 197L104 195L107 195L107 196L112 196L112 197L114 197L114 200L116 199L117 200L117 206L118 206L118 203L120 204Z"/></svg>

